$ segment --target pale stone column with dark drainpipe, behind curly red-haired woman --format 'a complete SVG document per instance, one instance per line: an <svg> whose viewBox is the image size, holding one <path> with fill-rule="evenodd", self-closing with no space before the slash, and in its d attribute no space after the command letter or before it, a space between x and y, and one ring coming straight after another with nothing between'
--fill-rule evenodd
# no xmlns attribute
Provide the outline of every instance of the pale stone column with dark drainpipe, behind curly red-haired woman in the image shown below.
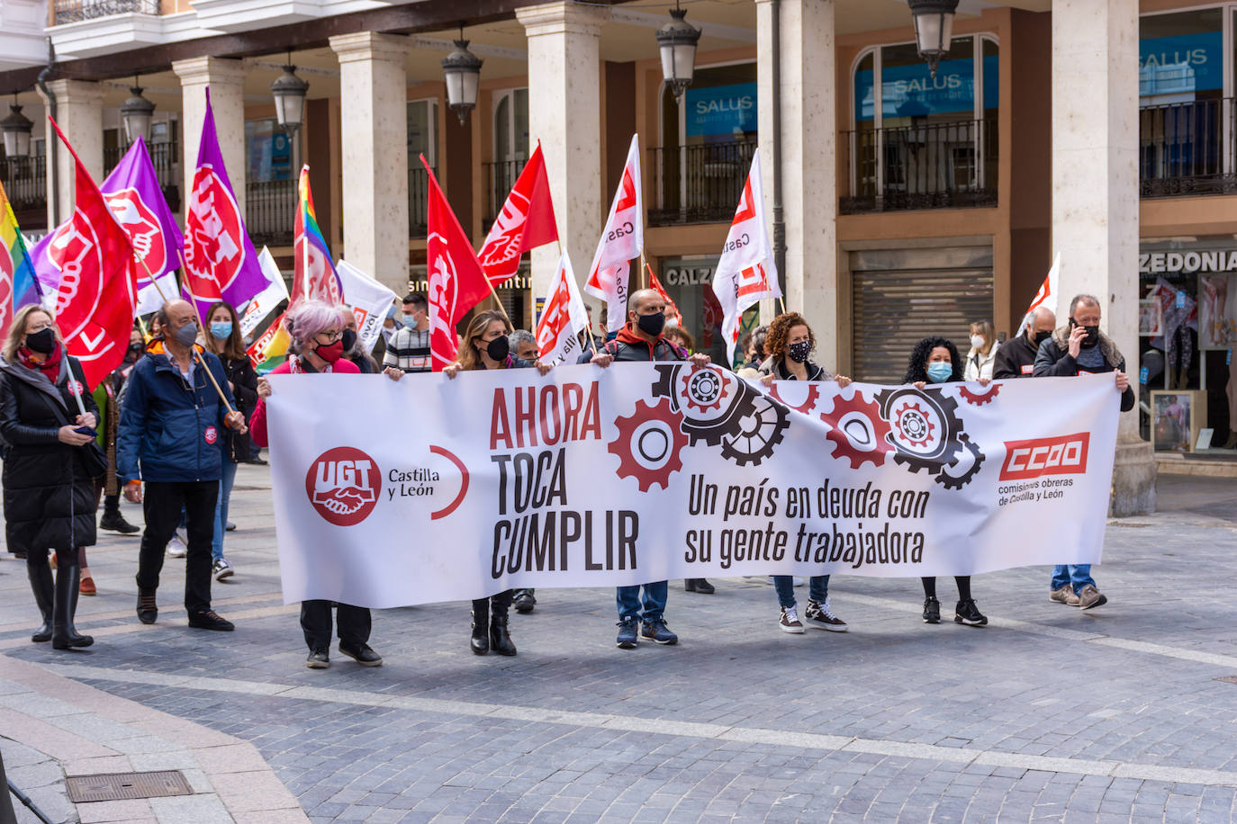
<svg viewBox="0 0 1237 824"><path fill-rule="evenodd" d="M773 214L773 62L781 70L782 215L785 308L816 335L816 358L837 368L837 180L834 0L756 0L757 109L764 208ZM771 237L773 227L769 227ZM777 240L773 240L777 243ZM772 305L764 314L779 311Z"/></svg>

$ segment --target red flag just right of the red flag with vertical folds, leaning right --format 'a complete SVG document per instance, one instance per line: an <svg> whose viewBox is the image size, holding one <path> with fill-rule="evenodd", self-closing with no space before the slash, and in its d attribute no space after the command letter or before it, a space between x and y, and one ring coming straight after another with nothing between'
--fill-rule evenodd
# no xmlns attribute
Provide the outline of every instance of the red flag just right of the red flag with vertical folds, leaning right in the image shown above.
<svg viewBox="0 0 1237 824"><path fill-rule="evenodd" d="M502 211L490 227L477 258L490 283L499 285L516 274L520 256L542 243L558 240L554 204L549 196L546 159L541 143L524 163L515 188L502 204Z"/></svg>

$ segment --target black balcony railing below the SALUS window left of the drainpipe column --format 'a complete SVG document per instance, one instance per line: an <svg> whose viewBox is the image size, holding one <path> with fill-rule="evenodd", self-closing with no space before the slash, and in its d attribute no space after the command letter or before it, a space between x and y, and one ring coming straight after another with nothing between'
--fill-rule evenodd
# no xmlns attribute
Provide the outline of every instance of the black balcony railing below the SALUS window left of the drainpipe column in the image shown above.
<svg viewBox="0 0 1237 824"><path fill-rule="evenodd" d="M756 146L755 141L736 141L648 149L653 173L649 225L730 221Z"/></svg>

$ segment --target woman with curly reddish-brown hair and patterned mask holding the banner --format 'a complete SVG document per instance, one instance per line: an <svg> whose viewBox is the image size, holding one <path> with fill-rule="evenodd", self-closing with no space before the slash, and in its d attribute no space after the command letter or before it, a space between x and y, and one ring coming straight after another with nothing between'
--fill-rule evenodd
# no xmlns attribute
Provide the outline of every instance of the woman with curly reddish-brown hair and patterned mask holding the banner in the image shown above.
<svg viewBox="0 0 1237 824"><path fill-rule="evenodd" d="M850 378L833 376L811 362L811 350L815 347L816 336L811 334L803 315L797 311L782 313L769 324L764 338L768 357L760 368L761 383L769 387L774 380L836 380L839 385L849 385ZM803 634L804 623L799 620L794 600L794 577L773 576L773 591L781 608L778 628L783 633ZM829 605L829 576L811 576L808 582L808 608L803 612L803 618L808 626L830 633L845 633L849 629L846 621L834 615Z"/></svg>

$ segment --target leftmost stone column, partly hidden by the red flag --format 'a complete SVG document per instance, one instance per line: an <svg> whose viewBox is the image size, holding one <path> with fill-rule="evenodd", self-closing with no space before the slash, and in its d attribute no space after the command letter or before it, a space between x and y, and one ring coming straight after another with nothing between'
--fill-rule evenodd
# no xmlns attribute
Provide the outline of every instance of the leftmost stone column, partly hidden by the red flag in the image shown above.
<svg viewBox="0 0 1237 824"><path fill-rule="evenodd" d="M82 158L87 172L95 183L103 183L103 89L98 83L88 80L52 80L47 88L56 95L56 122L59 125L64 137L73 146L73 151ZM43 98L42 90L38 93ZM51 112L47 98L43 105ZM58 141L54 130L47 130L48 149L51 158L52 141ZM62 143L58 152L57 173L47 170L47 229L56 227L52 215L54 194L59 193L59 221L64 222L73 214L73 180L77 174L73 154Z"/></svg>

